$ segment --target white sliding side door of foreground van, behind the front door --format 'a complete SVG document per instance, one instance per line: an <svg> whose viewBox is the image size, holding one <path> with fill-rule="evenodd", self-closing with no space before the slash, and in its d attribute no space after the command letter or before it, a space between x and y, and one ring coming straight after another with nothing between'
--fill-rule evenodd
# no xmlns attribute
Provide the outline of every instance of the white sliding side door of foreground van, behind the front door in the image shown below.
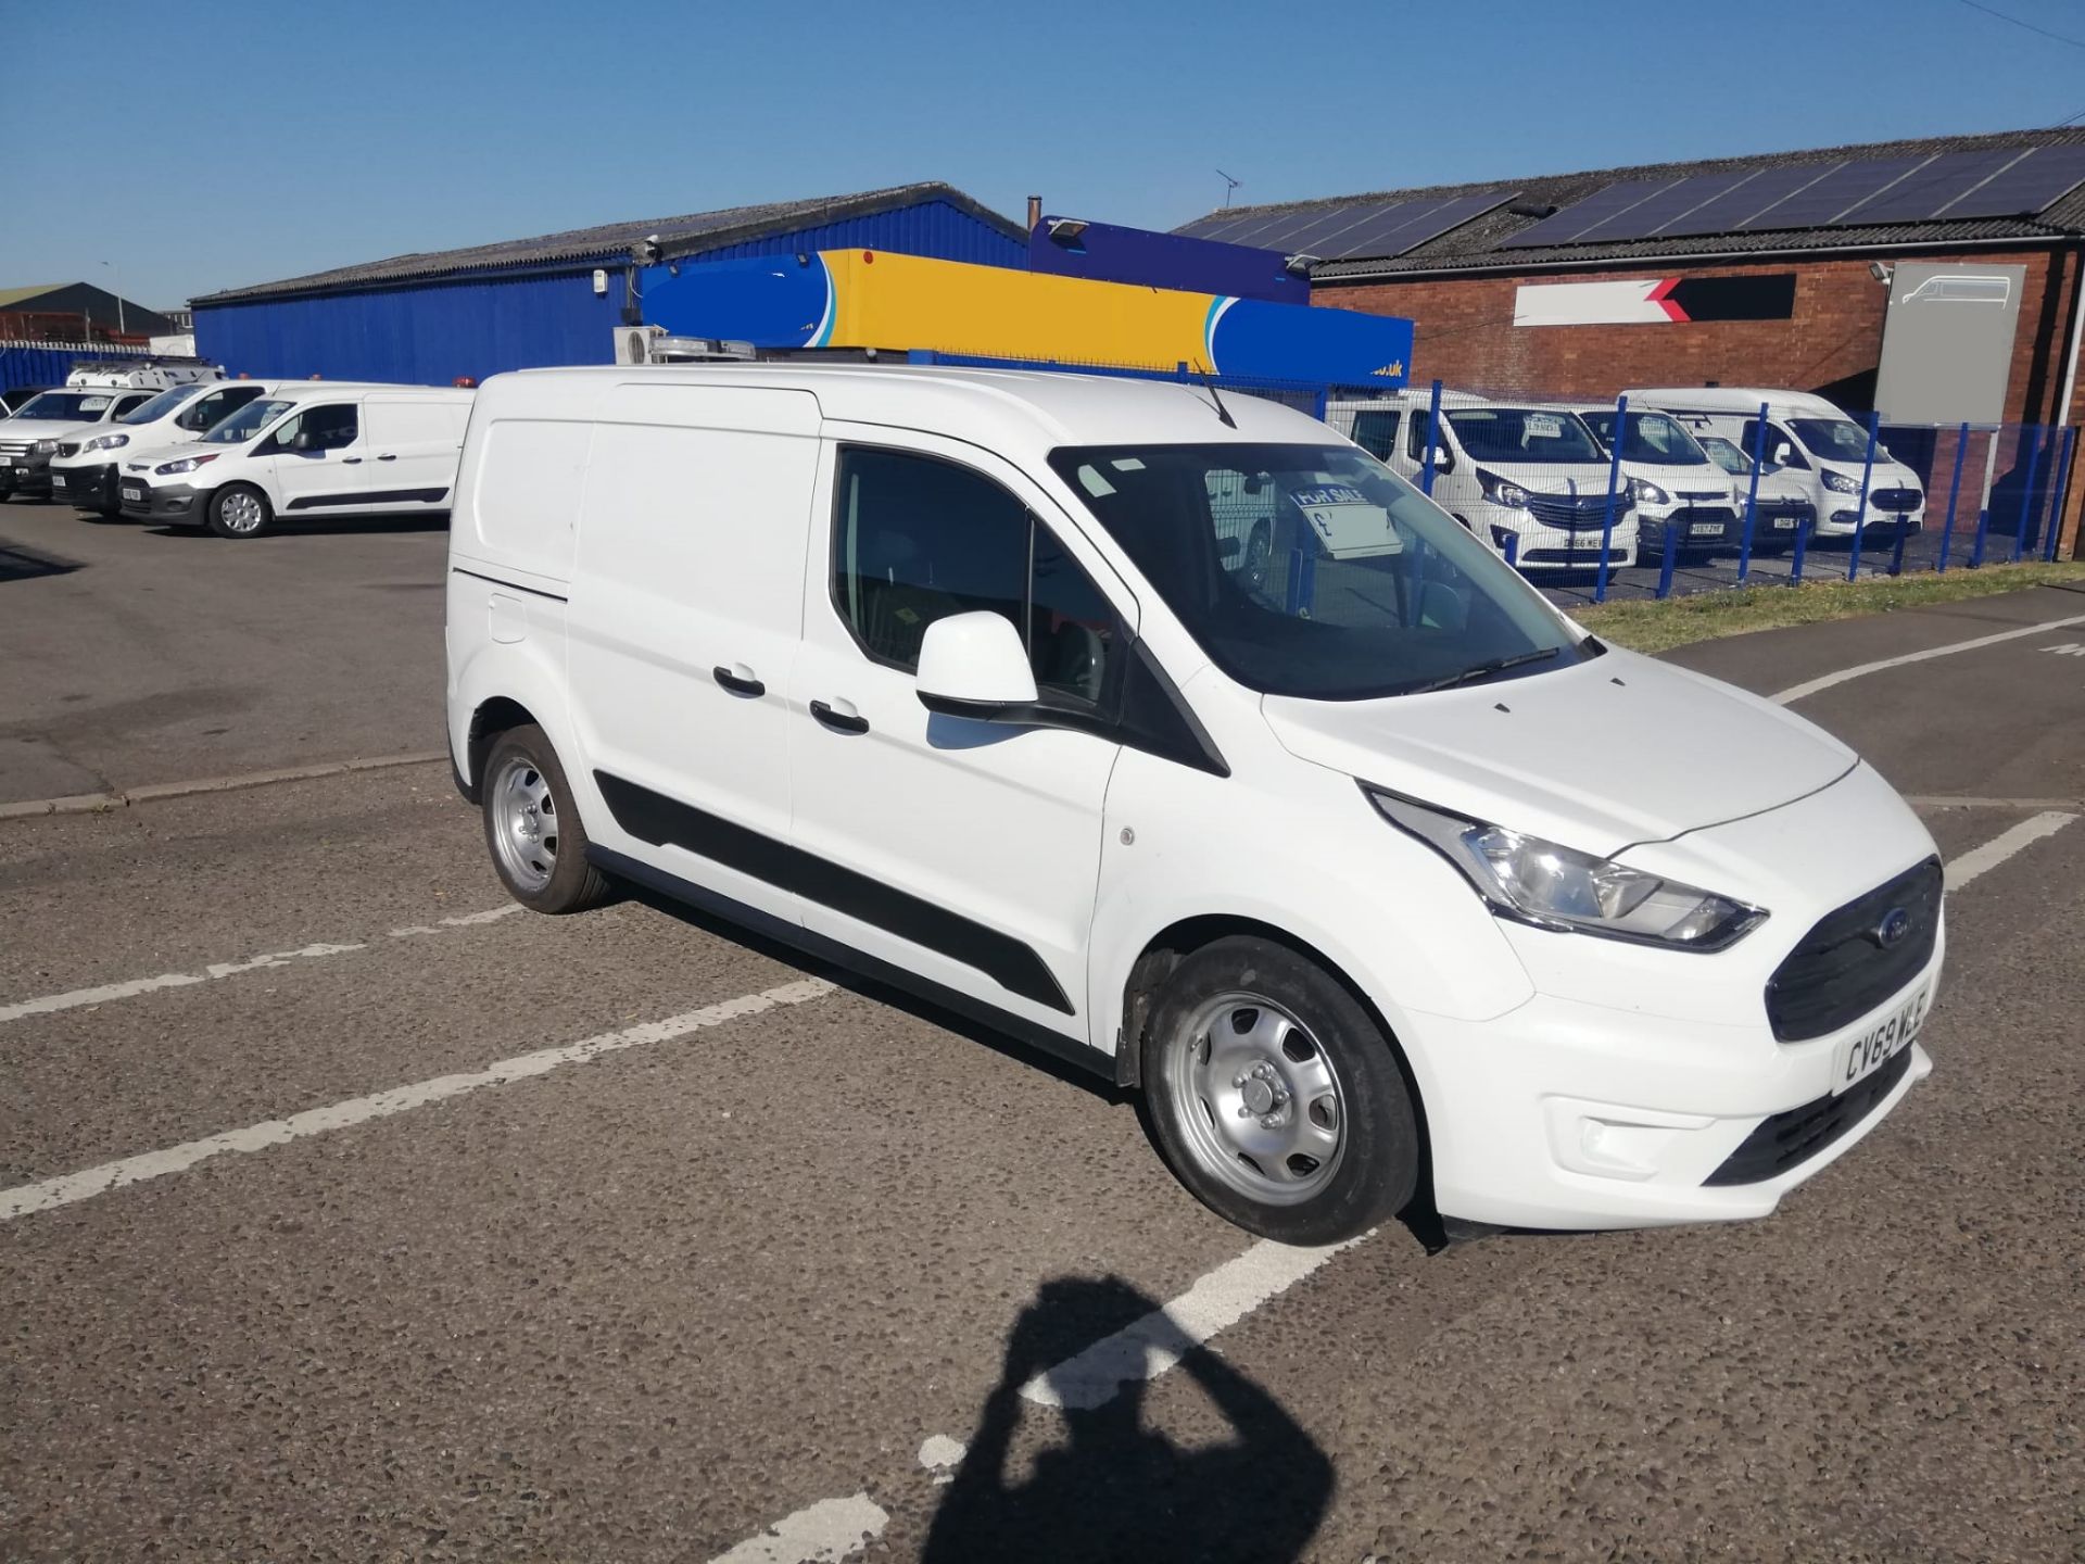
<svg viewBox="0 0 2085 1564"><path fill-rule="evenodd" d="M565 617L571 769L609 809L594 840L790 924L786 703L815 482L809 392L613 388Z"/></svg>

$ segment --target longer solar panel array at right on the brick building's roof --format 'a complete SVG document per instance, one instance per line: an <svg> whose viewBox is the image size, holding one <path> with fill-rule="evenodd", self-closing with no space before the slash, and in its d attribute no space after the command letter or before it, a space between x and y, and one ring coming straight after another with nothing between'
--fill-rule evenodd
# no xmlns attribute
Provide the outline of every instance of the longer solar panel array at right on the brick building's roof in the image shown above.
<svg viewBox="0 0 2085 1564"><path fill-rule="evenodd" d="M2079 181L2085 181L2085 144L1624 179L1514 234L1499 248L2031 217Z"/></svg>

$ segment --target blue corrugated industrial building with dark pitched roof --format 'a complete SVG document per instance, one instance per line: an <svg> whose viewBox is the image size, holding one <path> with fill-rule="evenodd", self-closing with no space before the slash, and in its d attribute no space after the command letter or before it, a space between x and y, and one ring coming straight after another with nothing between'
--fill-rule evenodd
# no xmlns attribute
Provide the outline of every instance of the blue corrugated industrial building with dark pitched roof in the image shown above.
<svg viewBox="0 0 2085 1564"><path fill-rule="evenodd" d="M234 375L444 386L615 361L690 267L830 248L1026 267L1026 227L945 184L732 206L400 254L192 300L196 352Z"/></svg>

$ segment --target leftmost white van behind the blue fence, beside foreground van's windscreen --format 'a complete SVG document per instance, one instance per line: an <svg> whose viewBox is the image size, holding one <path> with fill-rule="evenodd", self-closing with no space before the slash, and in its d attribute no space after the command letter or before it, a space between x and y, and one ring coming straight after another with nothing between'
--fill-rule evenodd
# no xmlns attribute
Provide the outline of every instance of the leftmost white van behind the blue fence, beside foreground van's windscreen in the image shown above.
<svg viewBox="0 0 2085 1564"><path fill-rule="evenodd" d="M1432 392L1395 392L1326 405L1326 421L1399 478L1420 482ZM1599 565L1608 526L1608 453L1570 413L1537 402L1441 394L1432 498L1495 548L1518 538L1522 569ZM1608 544L1614 569L1637 563L1637 517L1626 484Z"/></svg>

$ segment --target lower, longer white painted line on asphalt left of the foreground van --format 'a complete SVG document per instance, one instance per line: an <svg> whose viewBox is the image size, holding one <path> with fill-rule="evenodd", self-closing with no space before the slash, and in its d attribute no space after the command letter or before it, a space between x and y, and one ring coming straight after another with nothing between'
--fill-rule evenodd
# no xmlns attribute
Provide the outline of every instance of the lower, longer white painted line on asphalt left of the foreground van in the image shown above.
<svg viewBox="0 0 2085 1564"><path fill-rule="evenodd" d="M167 1174L188 1172L198 1162L206 1162L208 1157L225 1151L267 1151L269 1147L284 1145L286 1141L346 1130L354 1124L367 1124L373 1118L409 1114L415 1107L442 1103L450 1097L463 1097L465 1093L482 1091L486 1086L511 1086L517 1080L530 1080L534 1076L548 1074L550 1070L561 1070L567 1064L598 1059L603 1053L640 1049L653 1043L671 1043L678 1036L688 1036L688 1032L723 1026L726 1022L734 1022L742 1016L759 1016L776 1005L803 1005L830 993L832 984L824 978L803 978L799 982L786 982L780 988L765 988L757 995L740 995L738 999L726 999L717 1005L703 1005L701 1009L690 1009L682 1016L669 1016L663 1022L644 1022L642 1026L630 1026L621 1032L603 1032L580 1043L567 1043L565 1047L538 1049L536 1053L519 1053L511 1059L496 1059L484 1070L473 1070L469 1074L417 1080L411 1086L392 1086L390 1091L379 1091L369 1097L350 1097L344 1103L313 1107L311 1111L292 1114L290 1118L271 1118L261 1124L248 1124L244 1130L225 1130L223 1134L211 1134L202 1141L186 1141L181 1145L167 1147L165 1151L146 1151L136 1157L123 1157L121 1162L104 1162L98 1168L83 1168L81 1172L65 1174L63 1178L46 1178L40 1184L0 1189L0 1222L13 1222L17 1216L29 1216L31 1212L50 1212L58 1205L73 1205L77 1201L94 1199L96 1195L106 1195L113 1189L123 1189L125 1184L140 1184L148 1178L165 1178Z"/></svg>

